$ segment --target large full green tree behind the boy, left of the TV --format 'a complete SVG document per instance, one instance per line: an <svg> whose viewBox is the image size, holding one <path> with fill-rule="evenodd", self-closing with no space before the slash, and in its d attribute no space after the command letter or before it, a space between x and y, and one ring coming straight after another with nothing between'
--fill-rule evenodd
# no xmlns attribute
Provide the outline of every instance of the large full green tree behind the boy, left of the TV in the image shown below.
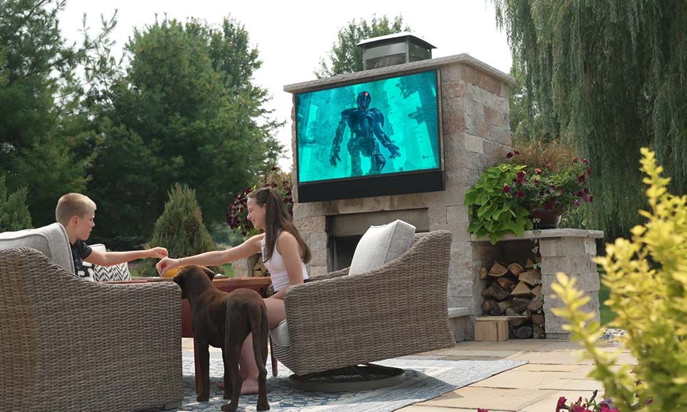
<svg viewBox="0 0 687 412"><path fill-rule="evenodd" d="M223 222L233 194L281 151L274 132L282 123L269 118L267 91L251 80L257 49L232 19L221 28L164 19L135 30L126 49L126 73L99 97L89 194L108 213L98 239L140 244L175 182L197 190L208 222Z"/></svg>

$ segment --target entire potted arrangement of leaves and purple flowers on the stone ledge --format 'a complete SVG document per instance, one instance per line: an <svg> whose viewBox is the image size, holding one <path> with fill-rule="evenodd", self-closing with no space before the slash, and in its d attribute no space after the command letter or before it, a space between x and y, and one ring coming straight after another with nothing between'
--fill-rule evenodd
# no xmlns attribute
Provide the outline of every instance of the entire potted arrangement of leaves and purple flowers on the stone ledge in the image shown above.
<svg viewBox="0 0 687 412"><path fill-rule="evenodd" d="M593 201L587 187L589 161L574 157L564 162L552 155L555 147L530 144L525 152L508 152L504 163L488 168L465 194L468 230L495 244L507 233L552 229L567 209Z"/></svg>

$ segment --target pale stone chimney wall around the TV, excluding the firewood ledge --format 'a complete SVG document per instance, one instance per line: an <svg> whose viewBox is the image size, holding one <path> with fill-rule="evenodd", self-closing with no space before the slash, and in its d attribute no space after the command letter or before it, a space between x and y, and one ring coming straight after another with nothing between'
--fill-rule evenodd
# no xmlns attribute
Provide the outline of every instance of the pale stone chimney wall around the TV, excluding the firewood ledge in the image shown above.
<svg viewBox="0 0 687 412"><path fill-rule="evenodd" d="M510 150L508 87L513 84L514 79L480 60L459 54L291 84L285 86L284 91L295 94L318 87L359 82L373 76L379 78L433 68L440 69L441 73L446 190L313 203L298 203L295 196L293 216L295 225L313 251L308 273L317 276L328 271L327 216L427 209L429 230L446 229L453 234L448 305L468 308L472 319L480 314L482 284L476 277L479 264L475 262L478 262L476 258L483 252L479 245L471 242L467 231L468 213L464 206L464 196L465 191L479 179L482 171L502 161ZM295 108L292 111L292 120L294 116ZM292 150L295 152L295 122L292 123L291 130ZM294 187L295 177L294 174ZM238 275L240 266L236 265ZM468 337L473 334L472 325L473 322L466 322Z"/></svg>

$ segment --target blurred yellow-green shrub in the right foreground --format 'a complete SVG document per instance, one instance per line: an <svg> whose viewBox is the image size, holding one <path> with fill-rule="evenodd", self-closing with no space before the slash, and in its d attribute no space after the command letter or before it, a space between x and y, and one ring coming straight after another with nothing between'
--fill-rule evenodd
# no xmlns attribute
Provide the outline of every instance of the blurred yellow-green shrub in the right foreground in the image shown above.
<svg viewBox="0 0 687 412"><path fill-rule="evenodd" d="M552 287L565 308L554 314L570 321L567 330L583 343L596 367L591 376L603 382L605 397L620 411L687 411L687 196L669 194L670 179L661 176L651 150L642 148L642 168L649 185L644 225L633 227L632 240L607 244L596 258L611 294L607 306L618 314L609 326L627 331L623 338L634 367L611 367L614 357L596 347L602 333L592 314L581 312L588 300L574 279L558 274Z"/></svg>

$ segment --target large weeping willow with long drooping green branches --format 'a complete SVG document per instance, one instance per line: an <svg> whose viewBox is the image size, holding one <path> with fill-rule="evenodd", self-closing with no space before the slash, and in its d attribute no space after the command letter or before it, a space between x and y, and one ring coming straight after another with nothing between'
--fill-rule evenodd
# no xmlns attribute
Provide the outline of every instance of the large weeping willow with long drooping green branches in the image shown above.
<svg viewBox="0 0 687 412"><path fill-rule="evenodd" d="M687 188L687 3L494 0L530 117L594 164L590 220L608 236L637 222L641 146L671 190Z"/></svg>

